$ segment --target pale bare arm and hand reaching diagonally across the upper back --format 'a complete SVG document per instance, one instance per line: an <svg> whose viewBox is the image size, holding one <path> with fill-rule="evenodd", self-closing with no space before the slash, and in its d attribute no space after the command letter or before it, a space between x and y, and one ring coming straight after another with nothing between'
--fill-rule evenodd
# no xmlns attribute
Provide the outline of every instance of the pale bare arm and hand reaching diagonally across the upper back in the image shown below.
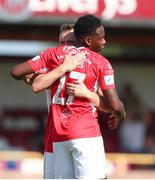
<svg viewBox="0 0 155 180"><path fill-rule="evenodd" d="M38 93L44 89L49 88L57 79L59 79L66 72L74 70L85 60L85 53L78 53L74 56L69 54L66 56L63 64L58 66L56 69L48 72L47 74L41 74L35 78L32 83L32 89Z"/></svg>

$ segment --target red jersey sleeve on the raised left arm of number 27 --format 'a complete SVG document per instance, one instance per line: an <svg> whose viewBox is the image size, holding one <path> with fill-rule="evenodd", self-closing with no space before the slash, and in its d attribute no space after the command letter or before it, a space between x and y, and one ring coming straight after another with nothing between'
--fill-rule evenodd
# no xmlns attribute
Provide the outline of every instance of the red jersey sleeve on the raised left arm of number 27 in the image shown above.
<svg viewBox="0 0 155 180"><path fill-rule="evenodd" d="M39 73L47 73L49 70L49 61L50 61L50 50L52 49L46 49L41 54L35 56L34 58L28 60L28 63L30 64L32 70L34 72Z"/></svg>

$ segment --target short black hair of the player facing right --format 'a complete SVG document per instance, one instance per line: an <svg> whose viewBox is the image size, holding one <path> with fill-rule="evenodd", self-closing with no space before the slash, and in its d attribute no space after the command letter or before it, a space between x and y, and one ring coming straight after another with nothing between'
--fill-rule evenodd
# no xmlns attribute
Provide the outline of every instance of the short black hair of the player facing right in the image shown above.
<svg viewBox="0 0 155 180"><path fill-rule="evenodd" d="M102 26L101 20L92 14L81 16L74 25L76 39L95 34L96 29Z"/></svg>

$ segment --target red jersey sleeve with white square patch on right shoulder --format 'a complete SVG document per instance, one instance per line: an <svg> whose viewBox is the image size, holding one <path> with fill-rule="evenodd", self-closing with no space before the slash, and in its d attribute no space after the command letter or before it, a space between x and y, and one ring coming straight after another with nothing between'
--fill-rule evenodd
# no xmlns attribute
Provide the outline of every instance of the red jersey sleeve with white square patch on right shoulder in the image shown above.
<svg viewBox="0 0 155 180"><path fill-rule="evenodd" d="M115 88L114 70L108 60L99 67L99 85L102 90Z"/></svg>

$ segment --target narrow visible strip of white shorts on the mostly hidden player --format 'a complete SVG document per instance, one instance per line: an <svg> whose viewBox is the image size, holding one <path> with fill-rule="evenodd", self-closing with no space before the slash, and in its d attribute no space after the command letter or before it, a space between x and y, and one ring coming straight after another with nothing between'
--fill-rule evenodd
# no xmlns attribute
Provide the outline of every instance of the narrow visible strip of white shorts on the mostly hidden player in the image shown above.
<svg viewBox="0 0 155 180"><path fill-rule="evenodd" d="M44 152L44 179L54 179L54 154Z"/></svg>

